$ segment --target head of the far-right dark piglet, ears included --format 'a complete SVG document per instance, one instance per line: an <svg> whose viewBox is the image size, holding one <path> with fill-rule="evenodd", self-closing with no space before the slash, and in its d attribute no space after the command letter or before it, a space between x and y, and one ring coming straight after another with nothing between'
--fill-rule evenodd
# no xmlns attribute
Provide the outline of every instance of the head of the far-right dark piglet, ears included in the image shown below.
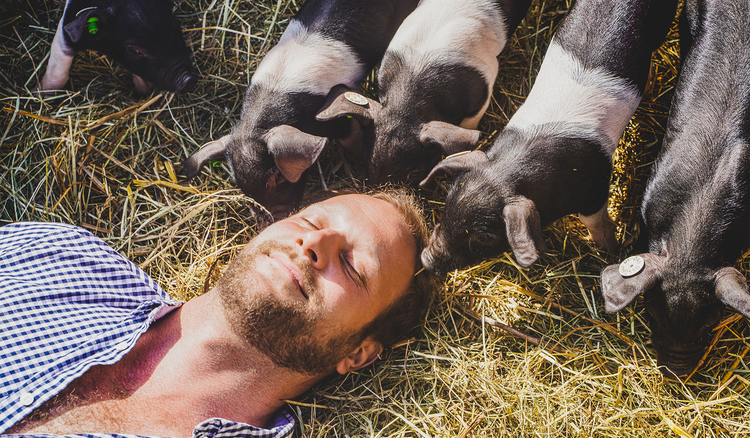
<svg viewBox="0 0 750 438"><path fill-rule="evenodd" d="M676 376L698 366L723 305L750 317L747 281L729 266L689 267L644 253L606 267L601 281L604 309L609 313L644 296L657 363Z"/></svg>

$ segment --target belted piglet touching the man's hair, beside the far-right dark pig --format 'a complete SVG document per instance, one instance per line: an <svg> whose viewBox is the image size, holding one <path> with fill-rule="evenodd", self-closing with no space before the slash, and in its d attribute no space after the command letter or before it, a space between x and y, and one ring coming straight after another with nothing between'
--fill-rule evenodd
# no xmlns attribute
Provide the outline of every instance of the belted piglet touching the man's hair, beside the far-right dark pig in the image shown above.
<svg viewBox="0 0 750 438"><path fill-rule="evenodd" d="M612 153L675 10L676 0L574 4L529 96L489 151L448 157L422 182L453 177L442 222L422 252L428 270L445 273L508 248L531 266L546 251L542 228L571 213L597 245L616 248L606 208Z"/></svg>

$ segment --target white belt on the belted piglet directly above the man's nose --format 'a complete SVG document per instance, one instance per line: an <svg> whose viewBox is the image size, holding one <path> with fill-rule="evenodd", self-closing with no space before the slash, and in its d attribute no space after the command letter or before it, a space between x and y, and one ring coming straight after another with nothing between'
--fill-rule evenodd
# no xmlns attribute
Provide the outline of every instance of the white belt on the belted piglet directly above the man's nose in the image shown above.
<svg viewBox="0 0 750 438"><path fill-rule="evenodd" d="M327 94L338 84L356 88L364 64L347 44L311 33L297 20L258 65L252 84L282 92Z"/></svg>

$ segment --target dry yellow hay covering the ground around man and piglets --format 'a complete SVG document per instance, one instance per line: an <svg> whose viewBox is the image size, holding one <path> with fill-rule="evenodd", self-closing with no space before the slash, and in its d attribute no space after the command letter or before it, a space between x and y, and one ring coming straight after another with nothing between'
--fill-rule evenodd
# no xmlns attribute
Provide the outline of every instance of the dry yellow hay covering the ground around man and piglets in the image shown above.
<svg viewBox="0 0 750 438"><path fill-rule="evenodd" d="M130 75L96 53L76 56L69 86L43 101L41 76L61 11L50 0L0 2L0 224L83 226L189 299L256 230L251 201L223 164L188 184L180 163L237 122L244 90L300 1L178 1L201 80L187 95L135 96ZM483 145L523 102L566 1L533 2L500 56ZM652 80L616 154L610 215L621 240L638 235L638 204L679 65L677 34L654 55ZM364 92L374 96L374 75ZM361 186L362 167L329 148L308 192ZM430 220L444 187L422 192ZM301 435L741 436L747 321L727 311L705 363L686 381L655 366L640 302L603 313L598 274L627 254L589 245L574 218L545 231L531 269L505 254L451 273L422 329L375 366L290 401ZM216 269L211 271L212 266ZM737 262L748 275L750 252ZM211 279L207 277L211 273ZM498 327L519 331L510 334ZM506 326L507 327L507 326ZM538 344L538 345L537 345Z"/></svg>

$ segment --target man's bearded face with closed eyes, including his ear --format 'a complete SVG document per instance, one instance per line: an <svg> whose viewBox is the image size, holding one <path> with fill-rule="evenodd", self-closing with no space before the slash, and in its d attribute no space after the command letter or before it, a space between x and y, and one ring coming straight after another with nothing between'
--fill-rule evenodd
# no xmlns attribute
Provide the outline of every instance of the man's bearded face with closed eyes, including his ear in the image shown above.
<svg viewBox="0 0 750 438"><path fill-rule="evenodd" d="M343 372L382 349L366 327L407 290L416 252L396 207L342 195L265 228L217 288L233 330L278 366Z"/></svg>

